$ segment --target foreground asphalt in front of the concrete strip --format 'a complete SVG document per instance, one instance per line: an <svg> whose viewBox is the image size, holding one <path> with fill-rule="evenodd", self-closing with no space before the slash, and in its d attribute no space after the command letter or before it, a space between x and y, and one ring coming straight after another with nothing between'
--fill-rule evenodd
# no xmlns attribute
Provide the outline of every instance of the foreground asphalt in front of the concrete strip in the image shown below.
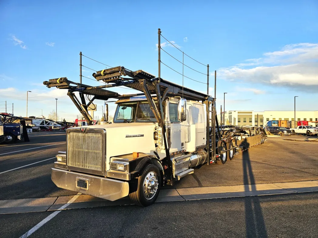
<svg viewBox="0 0 318 238"><path fill-rule="evenodd" d="M0 215L0 237L316 237L318 193ZM50 219L51 218L51 219Z"/></svg>

